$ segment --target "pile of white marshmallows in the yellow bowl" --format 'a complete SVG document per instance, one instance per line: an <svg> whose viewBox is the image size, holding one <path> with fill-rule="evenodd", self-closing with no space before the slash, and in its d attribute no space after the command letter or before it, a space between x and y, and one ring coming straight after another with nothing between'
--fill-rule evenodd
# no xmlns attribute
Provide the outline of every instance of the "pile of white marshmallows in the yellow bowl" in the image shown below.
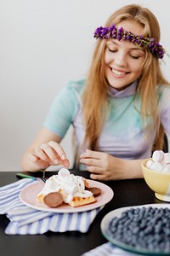
<svg viewBox="0 0 170 256"><path fill-rule="evenodd" d="M156 150L152 154L152 159L146 162L146 167L150 170L162 173L170 173L170 153Z"/></svg>

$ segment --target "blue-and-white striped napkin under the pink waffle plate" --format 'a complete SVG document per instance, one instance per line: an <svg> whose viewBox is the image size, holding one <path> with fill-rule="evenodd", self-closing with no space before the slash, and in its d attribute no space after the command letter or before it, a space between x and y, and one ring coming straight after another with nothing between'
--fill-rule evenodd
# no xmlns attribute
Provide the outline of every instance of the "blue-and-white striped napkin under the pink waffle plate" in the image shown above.
<svg viewBox="0 0 170 256"><path fill-rule="evenodd" d="M20 191L35 182L37 181L23 178L0 188L0 214L6 214L10 220L6 234L35 235L44 234L48 230L86 233L98 212L104 207L73 213L43 212L27 207L20 201Z"/></svg>

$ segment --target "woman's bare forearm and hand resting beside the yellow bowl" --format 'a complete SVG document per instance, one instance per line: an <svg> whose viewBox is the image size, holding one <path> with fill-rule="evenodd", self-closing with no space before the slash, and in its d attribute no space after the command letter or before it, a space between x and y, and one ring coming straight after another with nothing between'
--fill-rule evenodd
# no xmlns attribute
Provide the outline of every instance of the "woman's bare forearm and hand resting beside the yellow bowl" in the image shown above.
<svg viewBox="0 0 170 256"><path fill-rule="evenodd" d="M80 162L87 165L90 177L96 180L118 180L143 177L142 160L122 160L102 152L87 149Z"/></svg>

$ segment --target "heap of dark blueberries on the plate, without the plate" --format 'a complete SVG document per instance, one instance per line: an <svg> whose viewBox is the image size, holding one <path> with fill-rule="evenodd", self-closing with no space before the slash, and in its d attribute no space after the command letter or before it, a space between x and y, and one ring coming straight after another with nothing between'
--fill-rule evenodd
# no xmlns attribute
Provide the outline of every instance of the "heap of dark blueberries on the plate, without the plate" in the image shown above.
<svg viewBox="0 0 170 256"><path fill-rule="evenodd" d="M170 209L130 208L120 218L111 220L108 232L132 247L170 253Z"/></svg>

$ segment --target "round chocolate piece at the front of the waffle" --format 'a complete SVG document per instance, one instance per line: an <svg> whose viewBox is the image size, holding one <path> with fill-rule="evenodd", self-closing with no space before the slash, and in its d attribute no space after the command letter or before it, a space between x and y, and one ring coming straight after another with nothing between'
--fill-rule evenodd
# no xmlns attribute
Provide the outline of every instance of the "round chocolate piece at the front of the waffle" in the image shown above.
<svg viewBox="0 0 170 256"><path fill-rule="evenodd" d="M43 202L48 207L59 207L63 203L63 196L59 192L51 192L44 196Z"/></svg>

